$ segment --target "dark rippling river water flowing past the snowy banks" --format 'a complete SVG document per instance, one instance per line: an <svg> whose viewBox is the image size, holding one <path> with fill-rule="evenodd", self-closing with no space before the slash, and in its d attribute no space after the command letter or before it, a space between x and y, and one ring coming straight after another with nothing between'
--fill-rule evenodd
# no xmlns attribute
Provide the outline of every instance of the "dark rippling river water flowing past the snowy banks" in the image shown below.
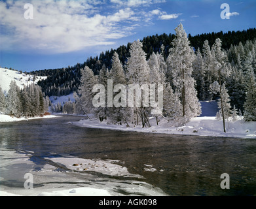
<svg viewBox="0 0 256 209"><path fill-rule="evenodd" d="M160 188L167 195L256 195L256 140L136 133L73 125L72 121L79 120L79 116L62 116L0 123L0 148L29 153L34 173L49 163L46 161L49 157L111 159L126 167L130 174L142 176L139 181ZM59 169L58 173L65 172L60 163L51 162L51 165ZM2 170L0 187L23 186L7 178L15 169ZM18 169L26 170L26 167ZM230 189L220 186L223 173L229 174ZM104 179L106 182L125 181L120 176L97 172L90 172L87 177L81 174L80 180L92 180L92 176L94 182L97 179L101 182ZM128 180L132 182L138 178ZM40 181L44 182L42 174ZM35 187L43 186L41 183ZM119 190L126 195L124 188Z"/></svg>

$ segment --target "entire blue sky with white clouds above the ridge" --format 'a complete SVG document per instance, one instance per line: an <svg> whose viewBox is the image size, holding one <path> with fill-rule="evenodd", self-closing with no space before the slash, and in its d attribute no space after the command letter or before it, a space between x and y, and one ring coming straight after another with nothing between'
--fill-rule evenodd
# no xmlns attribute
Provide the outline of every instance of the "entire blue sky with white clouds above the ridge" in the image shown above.
<svg viewBox="0 0 256 209"><path fill-rule="evenodd" d="M149 35L175 34L180 23L187 35L242 31L256 26L255 11L255 0L0 0L0 65L73 66Z"/></svg>

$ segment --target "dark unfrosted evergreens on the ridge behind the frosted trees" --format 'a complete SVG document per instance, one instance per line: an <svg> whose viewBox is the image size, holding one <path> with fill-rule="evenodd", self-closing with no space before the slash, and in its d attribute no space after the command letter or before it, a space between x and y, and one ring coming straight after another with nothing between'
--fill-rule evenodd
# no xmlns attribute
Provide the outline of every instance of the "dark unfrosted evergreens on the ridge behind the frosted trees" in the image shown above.
<svg viewBox="0 0 256 209"><path fill-rule="evenodd" d="M191 36L188 35L191 46L194 50L200 49L202 53L202 48L204 46L204 41L208 40L209 46L213 46L215 39L219 38L222 42L223 50L229 51L230 48L238 46L239 44L246 44L247 41L253 40L256 37L256 29L247 29L244 31L229 31L223 33L204 33L201 35ZM162 52L164 59L166 60L170 53L170 48L172 48L172 41L175 38L175 34L166 33L162 35L152 35L145 37L141 40L143 44L143 51L146 53L146 59L149 59L153 52ZM132 43L128 43L126 46L122 45L116 50L107 50L106 52L101 52L100 56L88 57L84 63L77 63L73 67L65 67L62 69L49 69L41 71L30 72L36 76L48 76L46 80L41 80L38 83L41 86L45 95L49 97L51 95L61 96L68 95L73 91L77 91L80 84L81 72L80 69L84 69L85 66L92 69L94 74L99 75L100 70L105 65L105 67L110 71L112 67L112 57L115 52L119 55L120 62L122 65L126 65L128 57L130 57L130 46ZM162 49L161 47L164 46Z"/></svg>

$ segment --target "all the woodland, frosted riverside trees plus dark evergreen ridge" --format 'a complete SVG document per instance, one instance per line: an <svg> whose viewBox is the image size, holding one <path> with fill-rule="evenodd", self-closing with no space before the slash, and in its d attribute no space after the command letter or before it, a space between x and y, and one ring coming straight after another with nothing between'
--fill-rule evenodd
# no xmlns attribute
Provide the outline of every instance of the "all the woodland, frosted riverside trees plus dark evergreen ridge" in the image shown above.
<svg viewBox="0 0 256 209"><path fill-rule="evenodd" d="M100 121L142 127L150 127L148 118L155 116L156 121L162 117L176 126L200 116L199 101L214 99L224 130L230 116L239 114L245 121L256 121L256 29L191 37L180 24L175 32L136 40L74 67L31 72L48 78L38 82L39 86L24 89L12 82L7 96L0 91L0 111L16 117L39 116L50 105L48 96L74 92L75 103L51 105L51 111L86 114L88 118L94 114ZM162 84L163 108L124 108L119 103L123 99L120 89L113 95L119 105L95 108L93 88L96 84L107 88L109 79L124 86Z"/></svg>

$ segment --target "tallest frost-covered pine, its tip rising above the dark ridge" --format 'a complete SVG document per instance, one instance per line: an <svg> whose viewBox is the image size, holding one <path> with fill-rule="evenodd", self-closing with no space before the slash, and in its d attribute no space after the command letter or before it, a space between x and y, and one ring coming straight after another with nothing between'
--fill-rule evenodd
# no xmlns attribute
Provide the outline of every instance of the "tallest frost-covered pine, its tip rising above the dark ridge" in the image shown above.
<svg viewBox="0 0 256 209"><path fill-rule="evenodd" d="M201 114L201 106L194 88L195 80L192 78L194 52L189 46L190 42L183 25L179 24L175 31L176 37L172 42L173 48L170 49L168 71L172 71L171 82L174 84L175 93L178 93L181 99L184 121L189 121Z"/></svg>

